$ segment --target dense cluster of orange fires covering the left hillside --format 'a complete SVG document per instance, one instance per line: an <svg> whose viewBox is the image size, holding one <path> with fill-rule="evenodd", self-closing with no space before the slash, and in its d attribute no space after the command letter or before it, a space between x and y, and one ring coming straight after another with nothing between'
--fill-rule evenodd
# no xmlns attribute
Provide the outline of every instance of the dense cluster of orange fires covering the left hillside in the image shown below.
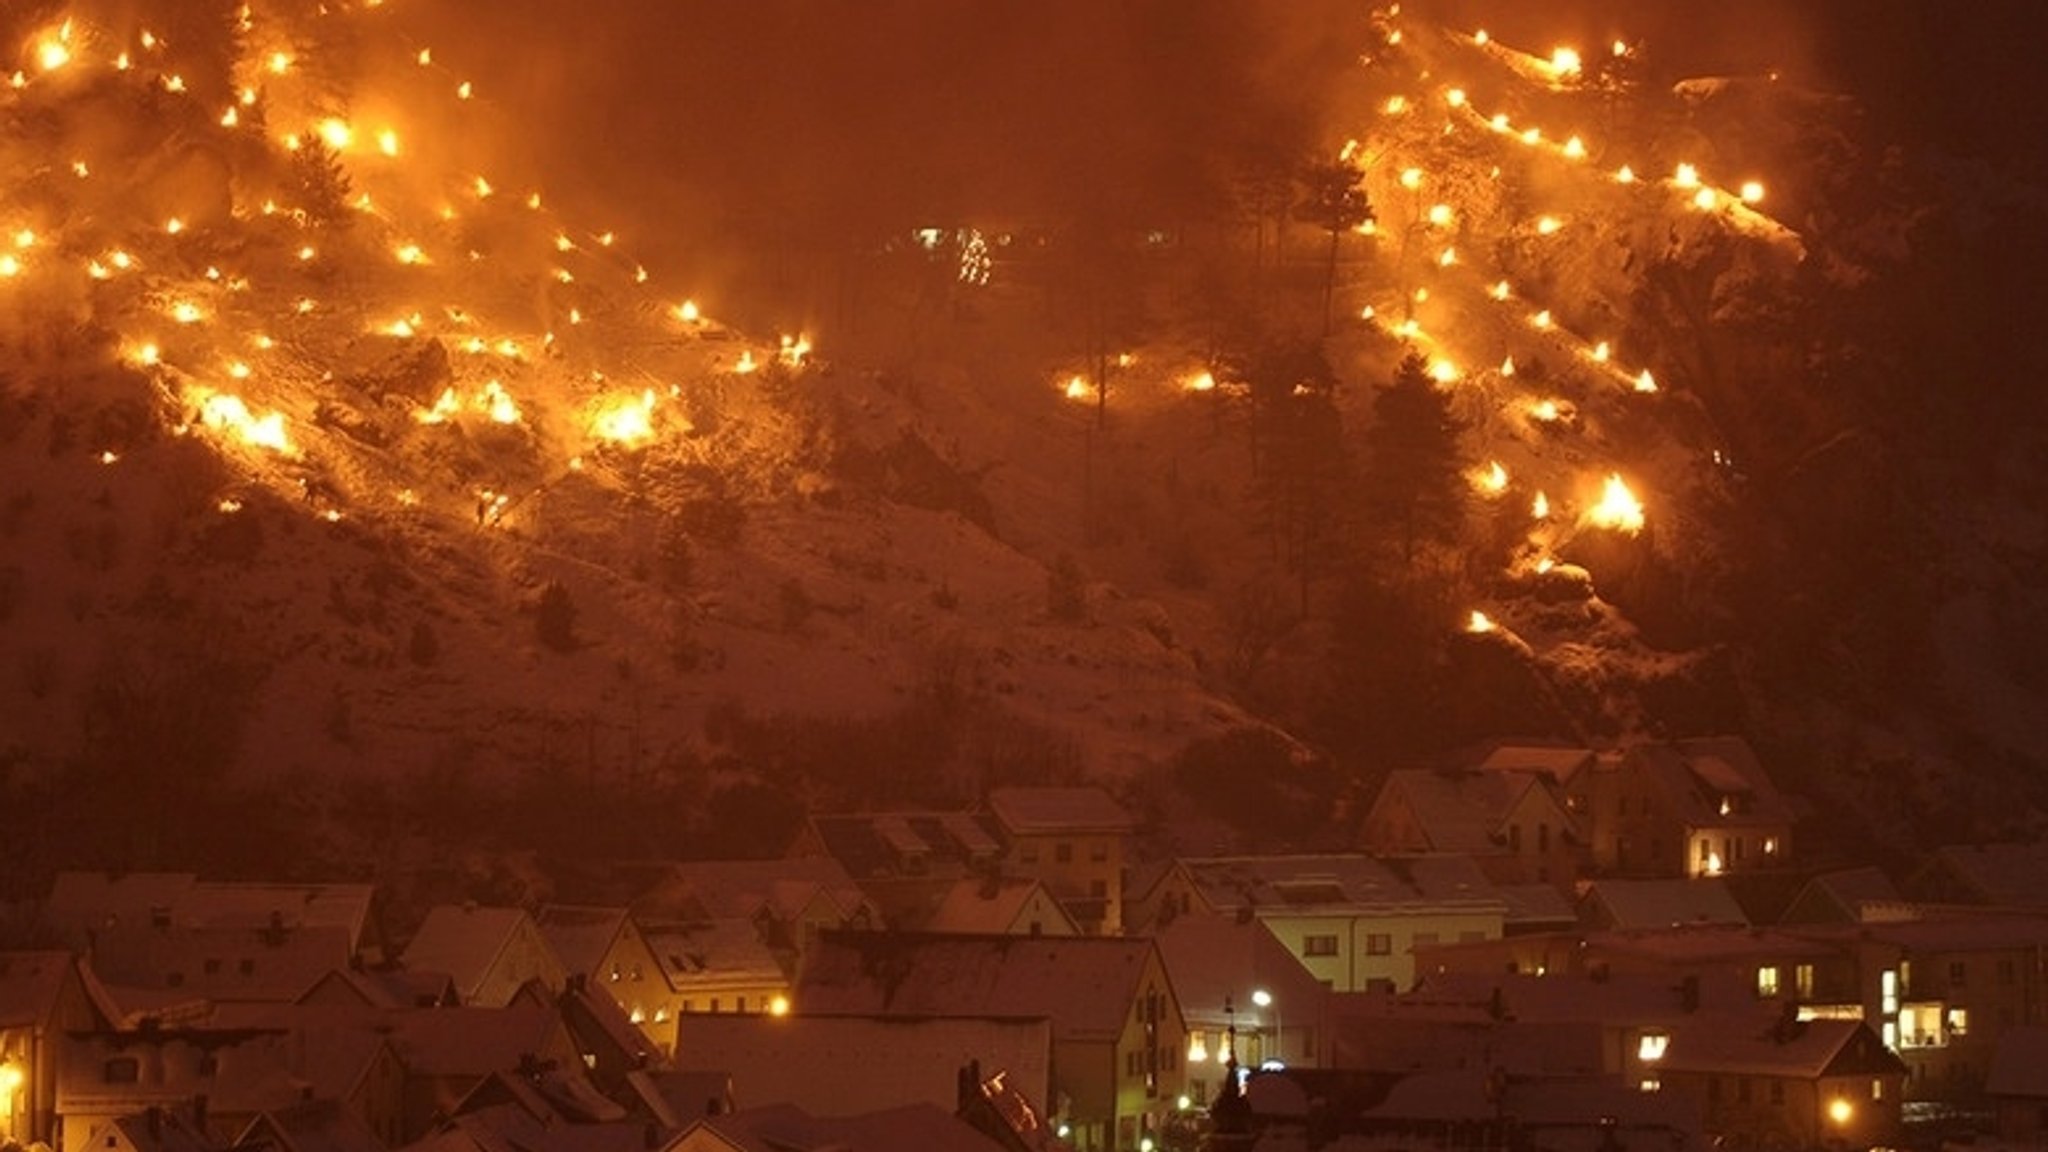
<svg viewBox="0 0 2048 1152"><path fill-rule="evenodd" d="M23 154L0 176L0 307L41 301L109 334L94 351L154 383L168 428L211 437L252 480L291 482L268 465L305 461L309 398L338 363L426 342L449 369L412 400L420 424L526 428L559 447L555 469L686 435L688 379L809 359L803 336L748 346L664 295L616 232L483 170L475 135L502 113L432 45L379 27L397 4L242 4L225 66L131 8L80 0L6 45L0 115ZM324 43L354 49L346 78ZM373 74L397 80L367 90ZM477 492L350 496L457 510Z"/></svg>

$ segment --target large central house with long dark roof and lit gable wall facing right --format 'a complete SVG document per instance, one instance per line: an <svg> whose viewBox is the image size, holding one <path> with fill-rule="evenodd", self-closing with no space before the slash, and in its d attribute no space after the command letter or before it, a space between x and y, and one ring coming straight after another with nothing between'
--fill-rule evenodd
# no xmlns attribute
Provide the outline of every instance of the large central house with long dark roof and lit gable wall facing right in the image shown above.
<svg viewBox="0 0 2048 1152"><path fill-rule="evenodd" d="M1149 939L827 933L793 998L799 1013L1051 1021L1051 1111L1081 1152L1141 1148L1186 1082L1188 1029Z"/></svg>

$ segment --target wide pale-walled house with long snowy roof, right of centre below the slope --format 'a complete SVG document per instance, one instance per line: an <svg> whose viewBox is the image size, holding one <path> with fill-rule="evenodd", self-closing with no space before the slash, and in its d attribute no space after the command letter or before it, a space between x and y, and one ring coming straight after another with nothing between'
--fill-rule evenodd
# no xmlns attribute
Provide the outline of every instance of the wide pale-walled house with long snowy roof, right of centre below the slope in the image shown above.
<svg viewBox="0 0 2048 1152"><path fill-rule="evenodd" d="M1415 949L1499 939L1507 902L1468 857L1184 857L1133 902L1141 924L1257 918L1337 992L1415 984Z"/></svg>

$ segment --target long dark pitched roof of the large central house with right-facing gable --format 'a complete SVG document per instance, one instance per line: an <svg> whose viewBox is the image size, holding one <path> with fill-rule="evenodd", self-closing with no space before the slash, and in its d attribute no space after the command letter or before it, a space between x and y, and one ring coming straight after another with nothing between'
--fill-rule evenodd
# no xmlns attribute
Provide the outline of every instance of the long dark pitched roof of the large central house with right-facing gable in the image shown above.
<svg viewBox="0 0 2048 1152"><path fill-rule="evenodd" d="M801 1013L1047 1017L1061 1039L1122 1035L1149 939L823 933L797 974Z"/></svg>

